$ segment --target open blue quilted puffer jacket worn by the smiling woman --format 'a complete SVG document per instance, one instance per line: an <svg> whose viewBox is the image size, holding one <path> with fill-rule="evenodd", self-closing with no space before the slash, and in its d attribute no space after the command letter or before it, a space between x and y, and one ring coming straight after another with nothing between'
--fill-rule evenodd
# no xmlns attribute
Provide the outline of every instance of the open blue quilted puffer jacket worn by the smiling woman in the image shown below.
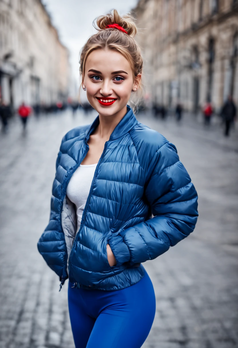
<svg viewBox="0 0 238 348"><path fill-rule="evenodd" d="M76 127L63 137L50 221L38 250L60 276L61 286L68 278L69 259L69 280L75 286L118 290L143 277L141 262L157 258L193 231L197 192L175 146L138 122L128 106L105 143L76 231L66 187L86 156L87 141L98 124L97 116L91 125ZM112 267L107 244L117 261Z"/></svg>

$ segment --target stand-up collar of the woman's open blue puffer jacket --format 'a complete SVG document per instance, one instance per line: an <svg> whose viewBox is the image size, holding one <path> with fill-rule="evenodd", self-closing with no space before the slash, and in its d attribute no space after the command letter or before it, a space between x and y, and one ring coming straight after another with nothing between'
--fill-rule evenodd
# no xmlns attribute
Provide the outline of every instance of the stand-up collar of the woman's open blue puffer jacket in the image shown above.
<svg viewBox="0 0 238 348"><path fill-rule="evenodd" d="M135 126L136 123L137 123L137 119L132 111L132 108L130 108L130 106L127 105L127 113L120 120L117 126L113 129L113 132L110 135L109 141L116 140L120 138L121 136L125 135L126 133L130 131L130 129L132 129ZM86 130L86 133L85 133L86 142L89 140L90 134L93 133L93 131L96 129L98 125L99 125L99 116L95 118L93 123Z"/></svg>

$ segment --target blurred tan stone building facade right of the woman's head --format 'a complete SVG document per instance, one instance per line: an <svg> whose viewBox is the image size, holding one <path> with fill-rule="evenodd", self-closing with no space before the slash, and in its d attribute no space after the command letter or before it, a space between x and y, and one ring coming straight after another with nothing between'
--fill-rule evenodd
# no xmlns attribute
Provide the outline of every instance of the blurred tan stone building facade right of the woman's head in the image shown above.
<svg viewBox="0 0 238 348"><path fill-rule="evenodd" d="M140 0L133 12L151 102L238 102L238 0Z"/></svg>

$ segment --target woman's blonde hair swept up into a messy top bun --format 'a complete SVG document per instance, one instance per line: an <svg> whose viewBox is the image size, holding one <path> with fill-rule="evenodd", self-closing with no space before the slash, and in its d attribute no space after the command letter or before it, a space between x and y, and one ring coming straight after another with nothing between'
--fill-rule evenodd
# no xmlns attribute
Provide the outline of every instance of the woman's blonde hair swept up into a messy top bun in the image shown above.
<svg viewBox="0 0 238 348"><path fill-rule="evenodd" d="M109 24L120 25L126 30L127 34L115 28L106 28ZM111 13L98 17L96 19L96 25L94 24L94 27L98 32L87 40L80 52L80 75L82 82L85 77L85 62L88 55L95 49L105 48L120 52L130 63L134 77L137 77L142 72L143 60L140 47L134 39L137 29L133 17L129 14L121 17L117 10L112 10ZM133 109L135 111L138 100L136 102L131 100L131 102L134 104Z"/></svg>

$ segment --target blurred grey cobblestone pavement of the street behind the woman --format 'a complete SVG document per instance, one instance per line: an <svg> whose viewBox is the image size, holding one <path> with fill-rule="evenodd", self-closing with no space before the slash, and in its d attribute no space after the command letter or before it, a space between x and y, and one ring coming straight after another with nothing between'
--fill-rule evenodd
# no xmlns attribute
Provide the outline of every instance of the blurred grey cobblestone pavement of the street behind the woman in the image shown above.
<svg viewBox="0 0 238 348"><path fill-rule="evenodd" d="M37 251L50 208L55 160L62 136L96 114L70 111L32 117L26 135L14 120L0 137L0 347L73 348L68 282ZM192 116L176 124L137 117L178 150L199 195L195 231L144 263L157 311L143 348L238 347L237 131L225 139L214 121L204 129Z"/></svg>

